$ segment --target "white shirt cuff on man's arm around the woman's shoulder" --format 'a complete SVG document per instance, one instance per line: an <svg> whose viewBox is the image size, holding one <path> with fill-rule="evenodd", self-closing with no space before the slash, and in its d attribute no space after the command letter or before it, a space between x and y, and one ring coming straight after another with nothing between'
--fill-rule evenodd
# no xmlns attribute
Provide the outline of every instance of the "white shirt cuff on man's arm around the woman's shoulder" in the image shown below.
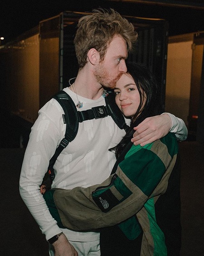
<svg viewBox="0 0 204 256"><path fill-rule="evenodd" d="M188 136L188 129L184 121L181 118L175 117L171 113L162 113L162 114L168 114L171 118L172 126L170 128L170 133L175 133L175 136L178 141L186 140Z"/></svg>

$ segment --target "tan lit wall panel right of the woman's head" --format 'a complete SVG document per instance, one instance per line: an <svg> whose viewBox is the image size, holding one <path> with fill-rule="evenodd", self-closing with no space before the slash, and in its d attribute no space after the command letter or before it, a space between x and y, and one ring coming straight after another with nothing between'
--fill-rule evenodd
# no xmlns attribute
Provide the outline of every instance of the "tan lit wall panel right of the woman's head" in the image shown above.
<svg viewBox="0 0 204 256"><path fill-rule="evenodd" d="M167 51L165 111L188 124L193 36L170 38ZM176 42L175 42L176 41Z"/></svg>

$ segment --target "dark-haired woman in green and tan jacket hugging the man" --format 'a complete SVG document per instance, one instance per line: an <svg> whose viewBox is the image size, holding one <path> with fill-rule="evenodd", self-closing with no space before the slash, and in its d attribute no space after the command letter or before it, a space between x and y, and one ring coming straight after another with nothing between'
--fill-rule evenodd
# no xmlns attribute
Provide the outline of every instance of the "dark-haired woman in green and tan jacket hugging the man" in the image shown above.
<svg viewBox="0 0 204 256"><path fill-rule="evenodd" d="M118 107L131 118L131 126L110 149L117 156L112 175L100 185L51 190L44 197L58 225L73 230L106 227L101 230L102 256L176 256L180 251L177 141L168 133L144 147L130 143L133 127L160 114L161 108L151 72L132 63L127 70L114 92Z"/></svg>

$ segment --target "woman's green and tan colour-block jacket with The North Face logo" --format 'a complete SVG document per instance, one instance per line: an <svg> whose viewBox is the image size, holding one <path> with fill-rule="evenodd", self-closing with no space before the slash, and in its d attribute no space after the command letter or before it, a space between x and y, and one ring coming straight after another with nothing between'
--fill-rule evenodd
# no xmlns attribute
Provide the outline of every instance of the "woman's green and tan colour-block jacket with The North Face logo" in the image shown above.
<svg viewBox="0 0 204 256"><path fill-rule="evenodd" d="M97 230L119 224L128 239L135 239L142 229L141 256L165 256L163 224L167 222L165 233L168 233L174 230L171 220L180 219L179 174L173 175L178 172L175 168L177 154L175 135L168 133L144 147L132 145L118 164L116 173L102 184L50 190L44 198L60 227ZM169 184L171 176L175 177L170 182L173 185ZM171 197L168 202L165 193L169 185L172 191L168 191ZM165 206L161 200L155 211L160 197ZM159 214L160 219L164 218L162 227L158 225L156 212L162 213ZM170 236L174 240L176 234Z"/></svg>

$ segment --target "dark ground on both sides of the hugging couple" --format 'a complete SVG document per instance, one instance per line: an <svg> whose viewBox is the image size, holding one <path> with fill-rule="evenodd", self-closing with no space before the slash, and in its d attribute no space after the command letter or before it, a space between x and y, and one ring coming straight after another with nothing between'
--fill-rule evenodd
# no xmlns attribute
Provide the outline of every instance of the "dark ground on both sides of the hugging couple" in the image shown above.
<svg viewBox="0 0 204 256"><path fill-rule="evenodd" d="M181 256L204 255L204 146L180 143ZM0 201L0 255L48 256L48 244L19 196L19 174L24 148L0 149L3 185Z"/></svg>

